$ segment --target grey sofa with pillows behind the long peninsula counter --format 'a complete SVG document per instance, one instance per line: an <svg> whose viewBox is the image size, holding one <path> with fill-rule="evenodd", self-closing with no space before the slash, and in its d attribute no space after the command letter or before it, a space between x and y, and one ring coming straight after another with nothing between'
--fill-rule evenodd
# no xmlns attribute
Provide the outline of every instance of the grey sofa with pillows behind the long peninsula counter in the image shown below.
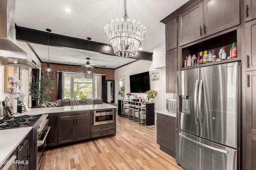
<svg viewBox="0 0 256 170"><path fill-rule="evenodd" d="M60 107L60 106L78 106L78 105L90 105L90 104L105 104L102 99L83 99L83 100L55 100L53 102L47 102L41 104L39 107Z"/></svg>

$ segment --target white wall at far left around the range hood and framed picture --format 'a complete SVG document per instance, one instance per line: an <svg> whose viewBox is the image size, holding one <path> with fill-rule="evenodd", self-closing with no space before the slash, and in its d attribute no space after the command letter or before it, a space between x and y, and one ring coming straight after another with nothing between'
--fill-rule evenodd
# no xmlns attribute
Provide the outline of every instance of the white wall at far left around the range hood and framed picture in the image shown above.
<svg viewBox="0 0 256 170"><path fill-rule="evenodd" d="M28 47L28 45L25 42L22 41L15 41L14 42L16 45L18 45L22 50L24 50L27 54L28 54L28 60L32 61L32 59L41 67L41 63L38 60L38 58L36 57L36 55L34 55L34 53L32 52L32 50L30 49L30 47ZM24 71L23 74L23 86L24 86L24 92L28 92L28 77L30 75L31 69L29 69L29 71ZM6 96L10 96L10 93L5 93L4 92L4 66L0 66L0 115L3 114L3 106L2 106L2 101L5 99ZM28 98L25 99L25 101L28 104Z"/></svg>

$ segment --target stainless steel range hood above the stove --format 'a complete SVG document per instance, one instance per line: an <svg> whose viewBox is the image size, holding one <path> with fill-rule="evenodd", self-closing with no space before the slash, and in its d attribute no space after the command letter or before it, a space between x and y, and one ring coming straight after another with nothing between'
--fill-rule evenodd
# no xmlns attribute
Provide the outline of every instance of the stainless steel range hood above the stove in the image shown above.
<svg viewBox="0 0 256 170"><path fill-rule="evenodd" d="M27 58L27 53L18 47L14 14L15 0L0 0L0 65L37 68Z"/></svg>

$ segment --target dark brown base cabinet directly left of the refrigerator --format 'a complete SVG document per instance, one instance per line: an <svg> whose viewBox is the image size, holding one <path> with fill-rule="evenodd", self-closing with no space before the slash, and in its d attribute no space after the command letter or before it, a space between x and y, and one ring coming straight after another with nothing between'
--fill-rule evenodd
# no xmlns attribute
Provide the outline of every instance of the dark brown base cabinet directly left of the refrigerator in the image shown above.
<svg viewBox="0 0 256 170"><path fill-rule="evenodd" d="M176 117L157 113L156 140L160 149L175 158Z"/></svg>

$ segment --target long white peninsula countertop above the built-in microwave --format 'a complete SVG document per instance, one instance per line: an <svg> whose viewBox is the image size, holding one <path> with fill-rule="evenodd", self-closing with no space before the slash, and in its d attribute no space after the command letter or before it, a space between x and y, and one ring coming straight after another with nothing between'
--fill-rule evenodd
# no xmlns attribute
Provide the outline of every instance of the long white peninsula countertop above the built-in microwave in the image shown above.
<svg viewBox="0 0 256 170"><path fill-rule="evenodd" d="M92 104L92 105L79 105L79 106L60 106L60 107L43 107L43 108L29 108L17 116L21 115L40 115L50 113L62 113L68 111L83 111L83 110L98 110L98 109L116 109L116 106L111 104Z"/></svg>

